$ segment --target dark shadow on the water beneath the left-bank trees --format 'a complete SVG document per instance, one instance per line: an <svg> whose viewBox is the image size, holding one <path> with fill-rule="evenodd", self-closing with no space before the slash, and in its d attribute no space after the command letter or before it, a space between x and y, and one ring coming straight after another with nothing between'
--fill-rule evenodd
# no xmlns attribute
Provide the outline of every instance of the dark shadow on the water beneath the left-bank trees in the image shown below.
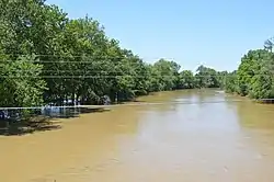
<svg viewBox="0 0 274 182"><path fill-rule="evenodd" d="M58 118L79 117L80 114L95 112L106 112L104 109L58 109L56 111L45 110L33 111L32 114L22 114L16 112L16 117L0 120L0 136L16 136L33 134L36 132L56 130L61 128L61 122ZM66 122L66 121L65 121Z"/></svg>

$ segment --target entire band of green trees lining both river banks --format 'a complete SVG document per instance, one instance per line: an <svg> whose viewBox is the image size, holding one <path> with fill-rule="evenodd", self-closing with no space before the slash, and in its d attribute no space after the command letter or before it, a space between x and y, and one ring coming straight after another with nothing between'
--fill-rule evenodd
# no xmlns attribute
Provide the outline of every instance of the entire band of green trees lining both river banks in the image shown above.
<svg viewBox="0 0 274 182"><path fill-rule="evenodd" d="M98 21L71 20L44 0L1 0L0 9L0 106L101 104L104 95L119 102L193 88L273 96L269 50L249 52L233 72L199 66L194 73L173 60L147 64L107 37Z"/></svg>

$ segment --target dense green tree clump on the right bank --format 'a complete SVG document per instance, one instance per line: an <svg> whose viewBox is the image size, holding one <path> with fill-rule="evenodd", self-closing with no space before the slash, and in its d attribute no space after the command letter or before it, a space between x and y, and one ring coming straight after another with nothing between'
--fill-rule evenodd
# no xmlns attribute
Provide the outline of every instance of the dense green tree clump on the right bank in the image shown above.
<svg viewBox="0 0 274 182"><path fill-rule="evenodd" d="M238 70L227 76L226 90L252 99L274 99L273 56L269 49L250 50Z"/></svg>

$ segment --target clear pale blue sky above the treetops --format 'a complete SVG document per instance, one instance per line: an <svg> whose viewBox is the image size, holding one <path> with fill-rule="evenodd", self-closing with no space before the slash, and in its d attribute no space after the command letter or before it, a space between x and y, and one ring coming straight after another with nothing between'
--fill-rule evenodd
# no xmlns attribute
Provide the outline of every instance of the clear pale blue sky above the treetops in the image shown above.
<svg viewBox="0 0 274 182"><path fill-rule="evenodd" d="M169 58L183 69L199 64L237 69L249 49L274 36L272 0L47 0L68 13L105 26L144 60Z"/></svg>

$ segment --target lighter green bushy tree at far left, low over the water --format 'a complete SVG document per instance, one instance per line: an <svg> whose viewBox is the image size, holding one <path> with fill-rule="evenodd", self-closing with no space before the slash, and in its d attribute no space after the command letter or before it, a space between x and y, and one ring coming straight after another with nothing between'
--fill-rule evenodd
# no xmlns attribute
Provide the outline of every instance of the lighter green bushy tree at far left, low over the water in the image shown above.
<svg viewBox="0 0 274 182"><path fill-rule="evenodd" d="M1 106L42 105L43 93L47 89L41 78L42 65L34 62L35 57L20 57L5 64L0 84Z"/></svg>

